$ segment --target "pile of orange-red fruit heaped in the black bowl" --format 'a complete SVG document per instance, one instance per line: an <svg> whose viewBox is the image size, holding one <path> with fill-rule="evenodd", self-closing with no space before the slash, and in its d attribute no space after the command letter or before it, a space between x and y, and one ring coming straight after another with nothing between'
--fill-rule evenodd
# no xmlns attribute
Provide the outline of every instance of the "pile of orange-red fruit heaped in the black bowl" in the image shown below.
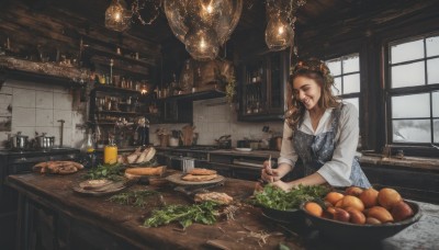
<svg viewBox="0 0 439 250"><path fill-rule="evenodd" d="M345 193L329 192L324 204L308 202L304 208L317 217L360 225L397 223L414 215L401 194L389 188L378 191L350 186Z"/></svg>

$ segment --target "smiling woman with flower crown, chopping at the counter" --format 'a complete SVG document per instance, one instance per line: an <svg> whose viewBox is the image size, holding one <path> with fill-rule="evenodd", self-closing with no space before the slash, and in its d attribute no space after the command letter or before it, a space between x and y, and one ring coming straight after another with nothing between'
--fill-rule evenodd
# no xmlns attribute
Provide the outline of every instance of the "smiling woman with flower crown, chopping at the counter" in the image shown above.
<svg viewBox="0 0 439 250"><path fill-rule="evenodd" d="M320 60L299 61L290 76L289 110L278 168L263 163L262 180L282 190L299 184L370 188L354 158L359 127L358 111L338 102L331 93L334 78ZM292 93L292 94L291 94ZM281 180L301 158L305 177Z"/></svg>

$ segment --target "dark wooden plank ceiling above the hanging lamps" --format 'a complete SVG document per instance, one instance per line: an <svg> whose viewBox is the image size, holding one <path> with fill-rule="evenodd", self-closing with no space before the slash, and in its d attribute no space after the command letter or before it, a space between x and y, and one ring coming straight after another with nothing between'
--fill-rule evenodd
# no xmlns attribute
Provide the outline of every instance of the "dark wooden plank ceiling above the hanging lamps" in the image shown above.
<svg viewBox="0 0 439 250"><path fill-rule="evenodd" d="M126 0L128 5L133 1ZM144 20L149 20L157 14L151 1L160 0L139 0L146 3L140 11ZM5 37L14 38L14 36L16 36L15 39L20 39L19 35L22 34L22 43L43 43L44 39L40 36L46 36L45 39L53 39L50 43L78 46L80 37L86 43L92 44L94 49L105 53L114 52L115 46L139 52L151 66L156 65L157 58L165 53L164 48L184 49L173 36L162 9L158 10L158 16L151 24L143 25L134 19L127 32L121 34L106 30L104 12L110 2L111 0L2 0L0 1L2 10L0 42L3 43ZM244 0L244 2L241 18L230 41L245 41L248 39L249 34L257 34L259 42L263 45L266 1ZM296 13L296 36L312 39L334 25L349 27L342 31L345 33L356 30L364 32L364 29L379 22L398 18L399 5L405 7L405 12L403 11L405 14L410 11L420 11L421 9L416 8L419 4L427 5L419 2L429 2L430 7L439 5L438 0L415 2L413 0L307 0L307 3ZM384 13L385 16L376 13ZM361 22L358 20L359 16L362 18ZM351 24L346 25L348 23ZM30 38L29 34L34 37ZM328 33L328 35L331 34Z"/></svg>

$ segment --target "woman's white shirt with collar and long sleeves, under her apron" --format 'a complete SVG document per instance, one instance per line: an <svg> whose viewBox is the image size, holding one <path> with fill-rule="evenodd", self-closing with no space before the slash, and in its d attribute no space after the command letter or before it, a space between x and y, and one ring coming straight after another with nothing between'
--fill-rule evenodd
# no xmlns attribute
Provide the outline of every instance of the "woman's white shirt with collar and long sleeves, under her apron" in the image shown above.
<svg viewBox="0 0 439 250"><path fill-rule="evenodd" d="M305 111L304 120L299 130L308 135L319 135L330 128L331 112L334 109L327 109L318 122L316 130L313 129L309 118L309 112ZM297 161L297 154L294 150L293 141L289 139L292 136L292 129L285 123L283 125L283 139L278 163L288 163L292 168ZM358 145L359 127L358 127L358 110L350 103L345 103L341 110L338 123L338 132L336 134L336 148L333 159L325 162L317 171L330 185L349 186L349 180L353 157Z"/></svg>

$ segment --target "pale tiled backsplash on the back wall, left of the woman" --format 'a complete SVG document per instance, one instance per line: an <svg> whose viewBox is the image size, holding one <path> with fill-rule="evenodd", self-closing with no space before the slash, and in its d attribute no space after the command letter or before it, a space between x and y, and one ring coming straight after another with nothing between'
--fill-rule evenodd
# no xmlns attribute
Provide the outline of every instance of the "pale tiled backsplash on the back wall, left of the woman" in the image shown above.
<svg viewBox="0 0 439 250"><path fill-rule="evenodd" d="M156 134L157 128L180 130L187 124L156 124L150 126L150 143L159 145ZM283 122L243 123L237 121L236 111L225 102L224 98L195 101L193 103L193 125L199 133L199 145L214 145L215 139L222 135L232 135L232 146L243 138L262 139L269 135L262 132L263 126L269 126L274 133L282 133Z"/></svg>

